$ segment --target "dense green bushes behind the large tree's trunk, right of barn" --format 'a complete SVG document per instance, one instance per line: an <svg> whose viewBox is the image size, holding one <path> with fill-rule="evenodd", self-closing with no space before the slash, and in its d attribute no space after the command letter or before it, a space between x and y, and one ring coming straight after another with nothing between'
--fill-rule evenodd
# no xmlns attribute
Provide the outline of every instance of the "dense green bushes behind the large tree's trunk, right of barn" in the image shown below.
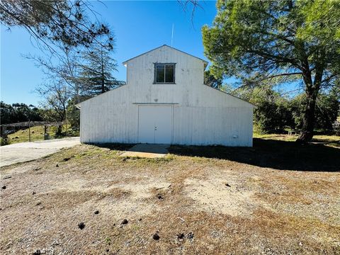
<svg viewBox="0 0 340 255"><path fill-rule="evenodd" d="M302 128L305 108L305 94L297 94L292 98L281 95L271 86L256 86L253 89L243 88L233 91L257 107L254 110L254 124L263 133L283 133L287 129L300 130ZM340 92L339 89L323 91L317 98L315 109L315 128L322 132L333 132L332 124L339 116Z"/></svg>

